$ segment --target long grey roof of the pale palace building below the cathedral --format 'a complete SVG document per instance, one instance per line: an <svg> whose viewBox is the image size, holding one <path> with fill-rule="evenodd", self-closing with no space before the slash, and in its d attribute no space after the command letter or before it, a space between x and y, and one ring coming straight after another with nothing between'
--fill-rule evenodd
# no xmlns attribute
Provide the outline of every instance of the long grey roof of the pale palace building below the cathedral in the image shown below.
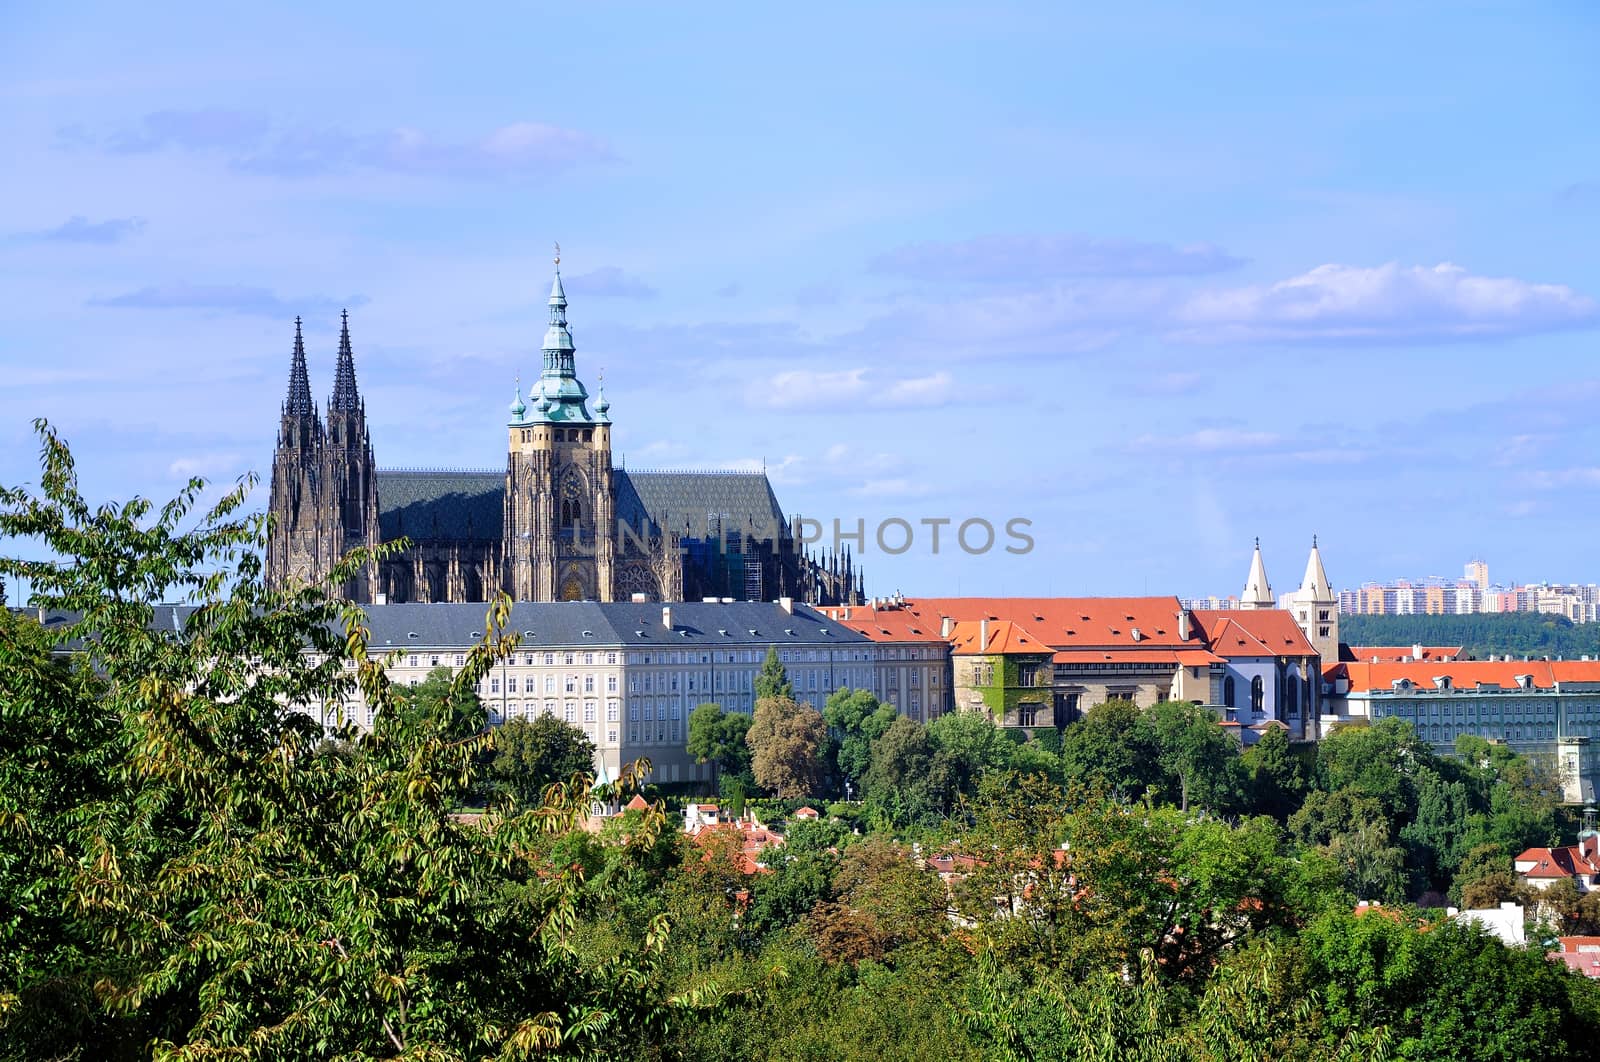
<svg viewBox="0 0 1600 1062"><path fill-rule="evenodd" d="M486 605L365 605L371 646L454 648L482 638ZM672 609L672 630L662 621ZM867 646L870 640L805 605L786 613L771 601L523 601L512 606L509 630L523 648L749 648L770 645ZM530 633L531 632L531 633ZM414 637L413 637L414 635Z"/></svg>

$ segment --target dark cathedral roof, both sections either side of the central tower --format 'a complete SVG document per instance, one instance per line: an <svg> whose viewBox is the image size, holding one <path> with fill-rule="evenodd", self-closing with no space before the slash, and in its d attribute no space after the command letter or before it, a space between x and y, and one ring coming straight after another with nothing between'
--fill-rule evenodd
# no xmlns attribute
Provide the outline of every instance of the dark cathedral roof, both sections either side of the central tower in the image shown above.
<svg viewBox="0 0 1600 1062"><path fill-rule="evenodd" d="M784 510L765 472L614 473L616 515L630 526L709 537L709 517L726 531L784 534ZM502 472L379 472L378 533L384 541L498 541L506 534Z"/></svg>

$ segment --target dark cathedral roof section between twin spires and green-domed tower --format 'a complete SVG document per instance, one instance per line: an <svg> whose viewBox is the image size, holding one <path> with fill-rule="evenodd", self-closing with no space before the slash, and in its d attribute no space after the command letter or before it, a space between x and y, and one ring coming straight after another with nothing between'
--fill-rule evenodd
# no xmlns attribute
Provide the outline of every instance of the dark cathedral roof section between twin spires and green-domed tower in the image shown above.
<svg viewBox="0 0 1600 1062"><path fill-rule="evenodd" d="M378 536L499 541L506 531L504 472L379 472Z"/></svg>

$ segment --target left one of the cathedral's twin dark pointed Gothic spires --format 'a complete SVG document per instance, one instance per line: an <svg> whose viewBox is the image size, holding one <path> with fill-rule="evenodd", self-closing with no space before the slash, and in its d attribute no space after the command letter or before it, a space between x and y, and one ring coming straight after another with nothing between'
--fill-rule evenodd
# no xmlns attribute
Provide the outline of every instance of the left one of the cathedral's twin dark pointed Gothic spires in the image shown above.
<svg viewBox="0 0 1600 1062"><path fill-rule="evenodd" d="M290 357L290 393L278 417L278 446L272 454L272 489L267 512L267 585L283 587L291 577L309 581L323 568L318 534L322 497L322 419L310 397L306 373L306 339L294 318L294 353Z"/></svg>

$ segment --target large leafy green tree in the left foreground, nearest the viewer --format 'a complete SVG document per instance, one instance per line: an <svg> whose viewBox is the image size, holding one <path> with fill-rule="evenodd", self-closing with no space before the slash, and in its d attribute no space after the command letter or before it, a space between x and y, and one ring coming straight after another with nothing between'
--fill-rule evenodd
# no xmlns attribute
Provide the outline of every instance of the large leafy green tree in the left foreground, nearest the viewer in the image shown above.
<svg viewBox="0 0 1600 1062"><path fill-rule="evenodd" d="M75 1054L618 1054L717 996L704 982L672 995L659 947L576 956L574 928L597 894L541 851L586 817L584 787L555 787L490 828L453 816L490 739L459 737L456 697L402 710L362 611L331 597L403 542L272 590L267 518L238 517L248 480L190 528L200 480L158 512L142 499L91 507L67 448L38 429L42 493L0 488L0 539L37 542L51 560L0 558L0 573L24 574L45 608L72 616L50 630L50 649L80 648L101 685L96 710L120 737L59 851L6 819L0 875L46 859L53 870L0 896L0 910L10 920L29 896L66 900L77 956L45 955L53 964L32 976L93 1000L99 1028ZM194 608L157 624L152 601L173 600ZM504 597L488 608L453 693L515 648L509 616ZM0 697L8 731L38 733L82 707L26 681L42 696ZM352 681L374 728L346 728L344 750L320 755L312 713ZM645 812L632 843L651 848L664 830L659 811ZM19 1036L54 1016L27 988L0 985L0 1043L42 1057L48 1044Z"/></svg>

